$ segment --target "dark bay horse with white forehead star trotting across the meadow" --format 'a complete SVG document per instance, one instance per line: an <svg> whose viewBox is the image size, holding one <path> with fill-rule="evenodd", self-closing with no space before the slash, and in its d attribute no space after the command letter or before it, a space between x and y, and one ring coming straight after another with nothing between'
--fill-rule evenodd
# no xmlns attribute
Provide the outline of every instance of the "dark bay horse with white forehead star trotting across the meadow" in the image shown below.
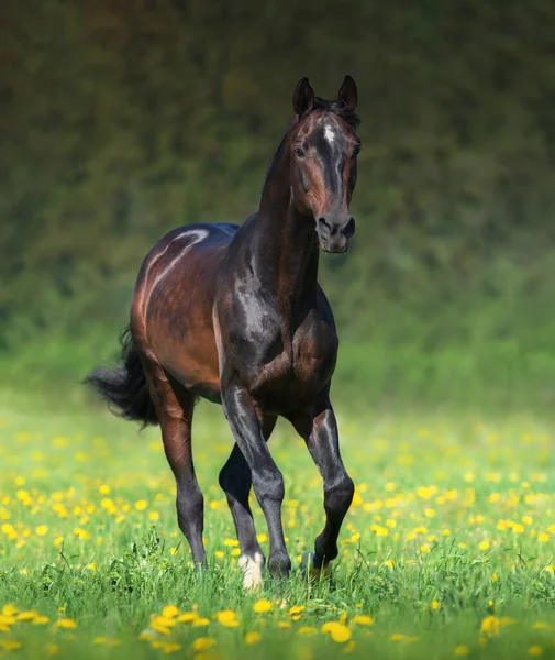
<svg viewBox="0 0 555 660"><path fill-rule="evenodd" d="M206 557L193 403L200 396L222 405L235 446L220 485L247 586L259 583L265 561L251 485L268 525L269 571L287 575L291 568L281 527L284 480L266 444L277 416L304 439L323 477L326 521L314 543L317 571L337 557L353 499L329 397L338 341L317 275L319 246L345 252L355 231L348 205L360 148L356 101L351 76L335 101L314 97L307 78L298 84L296 118L267 172L258 211L242 227L198 223L164 237L138 273L122 366L87 378L126 419L159 424L179 527L198 564Z"/></svg>

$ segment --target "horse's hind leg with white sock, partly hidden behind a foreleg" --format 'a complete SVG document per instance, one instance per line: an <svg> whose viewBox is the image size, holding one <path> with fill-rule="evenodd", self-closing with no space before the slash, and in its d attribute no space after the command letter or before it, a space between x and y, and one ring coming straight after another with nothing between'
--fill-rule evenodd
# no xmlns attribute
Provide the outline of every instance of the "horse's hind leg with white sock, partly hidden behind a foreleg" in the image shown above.
<svg viewBox="0 0 555 660"><path fill-rule="evenodd" d="M265 417L263 419L262 427L266 441L268 441L276 426L276 417ZM255 588L262 584L262 570L266 561L256 538L253 513L248 504L252 484L251 468L235 443L227 462L220 472L220 486L227 498L241 547L238 564L243 571L243 586L245 588Z"/></svg>

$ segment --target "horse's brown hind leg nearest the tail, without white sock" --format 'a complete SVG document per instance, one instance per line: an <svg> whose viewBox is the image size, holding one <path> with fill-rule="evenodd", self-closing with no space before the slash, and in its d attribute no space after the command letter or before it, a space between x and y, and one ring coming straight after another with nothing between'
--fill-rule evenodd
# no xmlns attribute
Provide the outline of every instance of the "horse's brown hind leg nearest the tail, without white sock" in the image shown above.
<svg viewBox="0 0 555 660"><path fill-rule="evenodd" d="M151 394L162 429L164 451L176 480L177 521L197 565L206 563L202 530L204 499L197 482L191 449L193 395L182 385L168 380L162 367L151 378Z"/></svg>

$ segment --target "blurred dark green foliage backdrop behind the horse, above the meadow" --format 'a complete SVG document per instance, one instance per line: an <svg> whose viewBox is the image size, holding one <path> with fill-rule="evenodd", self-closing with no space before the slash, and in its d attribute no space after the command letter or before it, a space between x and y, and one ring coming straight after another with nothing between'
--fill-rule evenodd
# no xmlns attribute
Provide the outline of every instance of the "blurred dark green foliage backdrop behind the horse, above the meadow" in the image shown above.
<svg viewBox="0 0 555 660"><path fill-rule="evenodd" d="M242 222L298 79L333 98L348 73L335 399L552 409L552 0L26 0L0 31L1 389L84 397L154 242Z"/></svg>

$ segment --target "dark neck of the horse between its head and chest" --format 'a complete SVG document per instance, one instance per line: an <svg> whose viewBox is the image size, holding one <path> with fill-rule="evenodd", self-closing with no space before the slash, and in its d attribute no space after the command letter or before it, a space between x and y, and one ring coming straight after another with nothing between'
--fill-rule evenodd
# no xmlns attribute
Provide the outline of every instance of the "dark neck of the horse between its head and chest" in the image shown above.
<svg viewBox="0 0 555 660"><path fill-rule="evenodd" d="M291 199L286 143L284 139L266 175L253 237L253 265L282 312L295 315L315 300L319 245L313 221L301 216Z"/></svg>

